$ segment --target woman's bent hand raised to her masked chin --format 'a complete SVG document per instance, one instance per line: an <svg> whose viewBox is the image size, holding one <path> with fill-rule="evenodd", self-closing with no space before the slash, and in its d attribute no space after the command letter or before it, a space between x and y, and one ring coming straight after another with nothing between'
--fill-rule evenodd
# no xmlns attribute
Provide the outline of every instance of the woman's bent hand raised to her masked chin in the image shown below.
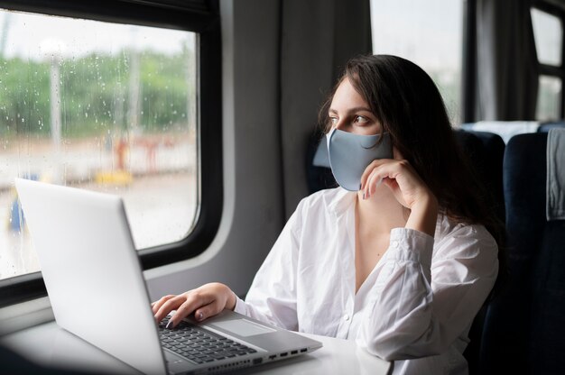
<svg viewBox="0 0 565 375"><path fill-rule="evenodd" d="M435 233L438 200L407 160L379 159L367 166L361 177L364 199L375 194L380 183L390 188L396 200L411 210L406 228Z"/></svg>

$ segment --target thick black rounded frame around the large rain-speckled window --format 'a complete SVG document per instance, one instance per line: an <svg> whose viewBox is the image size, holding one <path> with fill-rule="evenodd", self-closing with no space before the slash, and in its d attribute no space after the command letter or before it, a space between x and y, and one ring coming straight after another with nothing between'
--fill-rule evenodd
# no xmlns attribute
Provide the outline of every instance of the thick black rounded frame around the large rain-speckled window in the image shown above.
<svg viewBox="0 0 565 375"><path fill-rule="evenodd" d="M218 232L223 208L222 52L218 0L17 0L0 8L197 32L196 222L180 242L138 251L143 270L182 261L204 252ZM0 280L0 307L47 295L41 271Z"/></svg>

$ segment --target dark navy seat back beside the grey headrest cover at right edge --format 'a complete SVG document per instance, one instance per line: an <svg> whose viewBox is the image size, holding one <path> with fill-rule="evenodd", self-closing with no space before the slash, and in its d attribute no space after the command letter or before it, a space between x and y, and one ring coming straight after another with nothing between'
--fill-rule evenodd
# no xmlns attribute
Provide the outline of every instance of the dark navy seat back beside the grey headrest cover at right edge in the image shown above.
<svg viewBox="0 0 565 375"><path fill-rule="evenodd" d="M565 368L565 221L546 220L546 147L547 133L516 135L506 145L510 277L486 311L481 373Z"/></svg>

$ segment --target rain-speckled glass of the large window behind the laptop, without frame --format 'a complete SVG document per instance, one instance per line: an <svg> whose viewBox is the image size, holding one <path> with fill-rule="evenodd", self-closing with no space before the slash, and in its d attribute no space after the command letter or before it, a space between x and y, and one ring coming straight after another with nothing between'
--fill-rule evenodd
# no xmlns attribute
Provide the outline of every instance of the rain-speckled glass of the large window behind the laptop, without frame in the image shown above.
<svg viewBox="0 0 565 375"><path fill-rule="evenodd" d="M0 278L39 270L16 176L122 196L138 249L186 237L199 204L195 33L0 17Z"/></svg>

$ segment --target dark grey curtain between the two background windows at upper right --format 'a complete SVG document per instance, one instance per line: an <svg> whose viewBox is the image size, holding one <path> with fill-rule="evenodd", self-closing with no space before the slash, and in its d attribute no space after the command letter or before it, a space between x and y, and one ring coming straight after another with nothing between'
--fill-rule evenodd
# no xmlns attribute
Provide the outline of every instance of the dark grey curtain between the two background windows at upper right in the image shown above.
<svg viewBox="0 0 565 375"><path fill-rule="evenodd" d="M531 0L477 0L476 120L533 120L538 92Z"/></svg>

